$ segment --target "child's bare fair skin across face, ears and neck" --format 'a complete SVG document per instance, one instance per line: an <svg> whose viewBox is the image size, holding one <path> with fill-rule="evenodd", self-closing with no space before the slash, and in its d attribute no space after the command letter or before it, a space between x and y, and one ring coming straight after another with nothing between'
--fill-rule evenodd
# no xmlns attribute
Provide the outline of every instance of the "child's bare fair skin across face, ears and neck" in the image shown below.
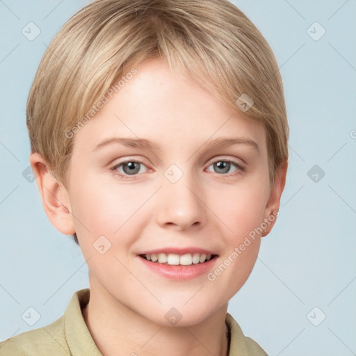
<svg viewBox="0 0 356 356"><path fill-rule="evenodd" d="M90 280L83 316L103 355L226 355L227 303L250 275L261 236L213 282L206 274L168 280L145 268L137 254L205 248L218 254L213 270L279 208L286 164L271 186L262 124L227 109L189 76L175 78L161 58L136 69L76 133L67 188L39 154L31 154L44 210L58 231L79 238ZM161 150L118 143L95 150L112 137L145 138ZM258 149L210 145L236 137L254 140ZM111 169L127 160L143 161L134 177L127 166ZM213 165L226 160L244 170ZM183 173L174 184L163 174L172 164ZM99 236L111 243L104 254L93 247ZM172 307L182 315L175 326L165 319Z"/></svg>

